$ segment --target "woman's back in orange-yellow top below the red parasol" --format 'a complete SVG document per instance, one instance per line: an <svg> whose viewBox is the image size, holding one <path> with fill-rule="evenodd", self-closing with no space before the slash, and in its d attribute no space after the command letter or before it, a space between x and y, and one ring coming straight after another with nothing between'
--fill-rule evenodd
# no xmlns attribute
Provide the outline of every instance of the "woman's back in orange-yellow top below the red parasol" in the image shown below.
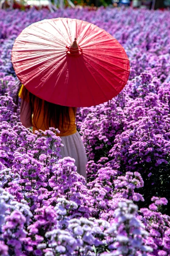
<svg viewBox="0 0 170 256"><path fill-rule="evenodd" d="M36 130L45 131L49 127L57 128L60 131L59 136L68 136L76 133L76 109L71 107L63 107L54 105L49 102L45 102L35 96L30 99L30 93L26 91L22 85L19 97L24 99L26 102L30 102L32 105L32 125L33 132ZM48 108L51 108L50 112L46 108L45 104L48 104ZM56 113L55 113L56 112ZM59 112L62 112L59 114ZM58 122L56 124L56 117L58 115Z"/></svg>

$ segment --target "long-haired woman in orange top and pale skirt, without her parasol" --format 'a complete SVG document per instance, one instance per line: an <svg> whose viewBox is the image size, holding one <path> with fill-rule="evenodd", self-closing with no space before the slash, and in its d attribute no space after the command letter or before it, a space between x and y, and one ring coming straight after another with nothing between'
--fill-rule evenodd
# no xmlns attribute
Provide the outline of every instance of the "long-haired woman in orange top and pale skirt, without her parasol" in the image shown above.
<svg viewBox="0 0 170 256"><path fill-rule="evenodd" d="M26 127L35 130L48 130L49 127L57 128L62 144L60 154L63 157L75 159L77 172L87 181L87 157L81 137L76 128L76 108L65 107L44 101L30 93L23 85L18 95L21 98L20 120Z"/></svg>

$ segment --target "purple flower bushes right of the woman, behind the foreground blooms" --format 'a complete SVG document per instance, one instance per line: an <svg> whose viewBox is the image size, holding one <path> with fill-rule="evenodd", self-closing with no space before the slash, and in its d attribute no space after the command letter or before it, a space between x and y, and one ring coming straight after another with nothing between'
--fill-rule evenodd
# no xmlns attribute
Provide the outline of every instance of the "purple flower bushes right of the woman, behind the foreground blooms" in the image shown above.
<svg viewBox="0 0 170 256"><path fill-rule="evenodd" d="M161 83L145 71L128 81L122 93L110 102L80 109L77 114L90 160L88 178L96 179L101 168L107 168L113 176L140 172L145 186L139 191L147 207L152 196L168 198L170 193L168 88L170 83Z"/></svg>

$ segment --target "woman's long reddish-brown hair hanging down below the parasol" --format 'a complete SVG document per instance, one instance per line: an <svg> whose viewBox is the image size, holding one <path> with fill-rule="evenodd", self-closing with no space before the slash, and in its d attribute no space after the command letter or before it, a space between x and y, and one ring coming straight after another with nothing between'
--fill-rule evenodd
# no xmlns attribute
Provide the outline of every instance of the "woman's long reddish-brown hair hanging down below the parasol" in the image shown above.
<svg viewBox="0 0 170 256"><path fill-rule="evenodd" d="M21 88L21 84L17 91L16 107L18 107L18 93L20 91L20 88ZM37 120L40 117L40 113L43 106L43 111L44 111L43 124L45 125L45 128L46 129L48 129L49 127L59 128L61 130L60 132L62 133L68 131L70 126L70 115L69 115L70 107L61 106L61 105L57 105L57 104L42 100L37 96L35 96L34 94L30 93L25 86L23 87L23 90L22 90L22 99L26 102L28 102L28 99L29 99L31 113L34 113L34 126L37 129L39 129L37 127ZM74 111L74 114L76 115L77 108L73 107L72 109ZM32 122L32 116L30 116L30 121ZM64 125L65 122L67 123L66 128Z"/></svg>

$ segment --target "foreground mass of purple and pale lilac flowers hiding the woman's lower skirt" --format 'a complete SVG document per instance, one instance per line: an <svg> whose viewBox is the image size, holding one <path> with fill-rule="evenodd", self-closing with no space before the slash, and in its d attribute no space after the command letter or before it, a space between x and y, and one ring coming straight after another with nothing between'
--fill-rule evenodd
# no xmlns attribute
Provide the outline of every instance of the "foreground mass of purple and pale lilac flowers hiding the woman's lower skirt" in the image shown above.
<svg viewBox="0 0 170 256"><path fill-rule="evenodd" d="M95 179L86 183L74 159L60 159L63 145L54 128L32 134L13 116L11 97L1 96L0 102L1 255L152 256L153 251L167 252L170 221L159 212L167 200L153 197L150 208L138 213L133 201L144 201L136 192L144 186L139 172L120 175L103 157L96 164ZM152 215L163 219L160 225L155 226ZM153 230L161 232L161 243L154 239Z"/></svg>

